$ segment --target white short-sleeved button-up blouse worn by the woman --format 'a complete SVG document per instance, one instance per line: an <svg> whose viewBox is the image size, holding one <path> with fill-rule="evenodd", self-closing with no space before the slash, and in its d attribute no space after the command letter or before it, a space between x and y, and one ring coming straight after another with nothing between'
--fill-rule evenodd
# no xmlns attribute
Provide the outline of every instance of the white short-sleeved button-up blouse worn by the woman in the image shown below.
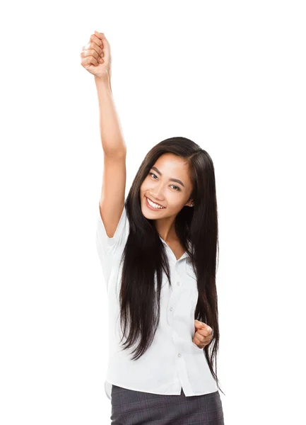
<svg viewBox="0 0 306 425"><path fill-rule="evenodd" d="M126 208L122 211L116 232L108 237L100 216L97 223L97 249L108 295L109 344L105 393L112 397L112 384L129 390L160 395L204 395L218 390L208 368L204 350L192 341L194 310L198 301L196 275L189 255L176 259L165 244L170 266L172 288L163 271L160 292L160 322L153 342L139 358L131 360L132 348L122 350L122 331L119 324L119 291L124 246L129 235ZM155 289L157 283L155 279ZM122 341L123 344L124 340Z"/></svg>

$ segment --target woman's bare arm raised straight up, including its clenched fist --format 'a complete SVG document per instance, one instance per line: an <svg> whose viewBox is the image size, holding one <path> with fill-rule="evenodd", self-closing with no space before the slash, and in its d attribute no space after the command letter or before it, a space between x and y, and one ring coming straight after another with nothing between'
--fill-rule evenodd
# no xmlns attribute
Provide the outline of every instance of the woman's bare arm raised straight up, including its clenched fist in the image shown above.
<svg viewBox="0 0 306 425"><path fill-rule="evenodd" d="M84 48L85 47L85 48ZM100 108L100 135L104 154L100 215L108 237L113 237L124 208L126 145L112 98L110 45L95 31L81 53L82 65L95 76Z"/></svg>

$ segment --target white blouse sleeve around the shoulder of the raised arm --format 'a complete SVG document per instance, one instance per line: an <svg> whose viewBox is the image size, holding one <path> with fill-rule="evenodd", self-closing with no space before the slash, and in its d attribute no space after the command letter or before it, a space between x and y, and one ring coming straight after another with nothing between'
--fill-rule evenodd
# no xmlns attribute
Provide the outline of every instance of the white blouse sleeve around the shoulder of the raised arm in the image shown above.
<svg viewBox="0 0 306 425"><path fill-rule="evenodd" d="M126 240L129 236L129 220L126 215L126 208L124 205L116 231L114 232L113 237L108 237L100 215L99 204L97 210L96 246L105 283L108 288L112 266L114 266L114 263L118 261L118 259L121 259Z"/></svg>

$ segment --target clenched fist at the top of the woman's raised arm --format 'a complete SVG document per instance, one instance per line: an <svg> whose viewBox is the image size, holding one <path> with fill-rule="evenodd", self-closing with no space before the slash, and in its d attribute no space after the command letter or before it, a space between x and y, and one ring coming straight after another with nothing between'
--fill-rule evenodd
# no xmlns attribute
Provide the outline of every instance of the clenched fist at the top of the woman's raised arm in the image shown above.
<svg viewBox="0 0 306 425"><path fill-rule="evenodd" d="M90 35L87 45L81 51L81 65L97 78L110 78L111 75L110 43L103 33L95 31Z"/></svg>

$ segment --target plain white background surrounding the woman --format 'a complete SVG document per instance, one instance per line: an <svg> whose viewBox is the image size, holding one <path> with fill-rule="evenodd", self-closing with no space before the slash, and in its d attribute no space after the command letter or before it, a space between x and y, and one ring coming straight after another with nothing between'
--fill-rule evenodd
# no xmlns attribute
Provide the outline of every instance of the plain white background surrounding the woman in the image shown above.
<svg viewBox="0 0 306 425"><path fill-rule="evenodd" d="M98 96L80 58L94 30L111 45L126 193L167 137L215 165L225 425L306 422L303 3L6 3L2 425L110 424Z"/></svg>

